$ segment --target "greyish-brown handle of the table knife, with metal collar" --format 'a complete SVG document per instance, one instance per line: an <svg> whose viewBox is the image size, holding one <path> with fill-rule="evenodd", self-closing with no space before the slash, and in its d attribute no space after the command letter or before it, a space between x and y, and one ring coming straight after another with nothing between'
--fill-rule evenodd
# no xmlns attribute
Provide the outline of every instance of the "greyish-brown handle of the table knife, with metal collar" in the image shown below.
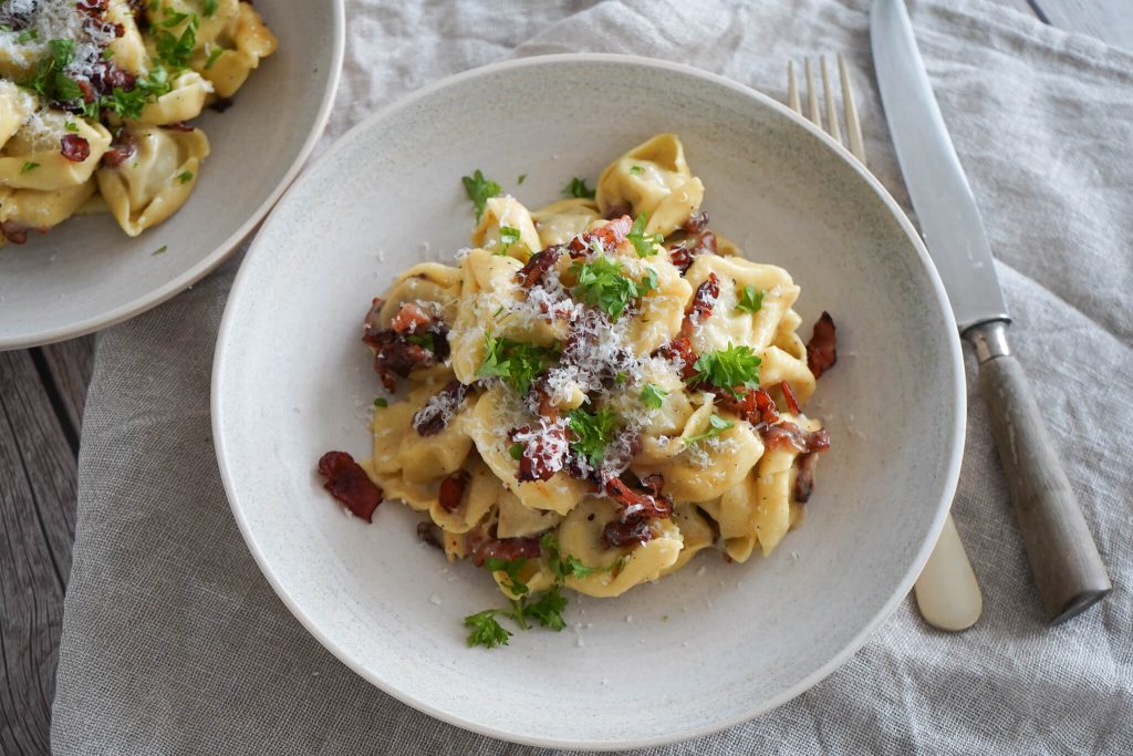
<svg viewBox="0 0 1133 756"><path fill-rule="evenodd" d="M1007 322L981 323L963 337L979 359L980 392L1034 583L1050 623L1058 625L1104 598L1113 585L1023 367L1007 346Z"/></svg>

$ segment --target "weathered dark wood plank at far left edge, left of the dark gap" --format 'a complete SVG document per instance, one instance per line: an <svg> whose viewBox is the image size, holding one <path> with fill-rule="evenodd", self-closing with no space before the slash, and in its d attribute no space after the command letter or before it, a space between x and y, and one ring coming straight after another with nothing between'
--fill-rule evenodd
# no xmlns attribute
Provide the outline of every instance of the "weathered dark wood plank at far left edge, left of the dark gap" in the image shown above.
<svg viewBox="0 0 1133 756"><path fill-rule="evenodd" d="M0 753L44 754L76 460L28 351L0 354Z"/></svg>

